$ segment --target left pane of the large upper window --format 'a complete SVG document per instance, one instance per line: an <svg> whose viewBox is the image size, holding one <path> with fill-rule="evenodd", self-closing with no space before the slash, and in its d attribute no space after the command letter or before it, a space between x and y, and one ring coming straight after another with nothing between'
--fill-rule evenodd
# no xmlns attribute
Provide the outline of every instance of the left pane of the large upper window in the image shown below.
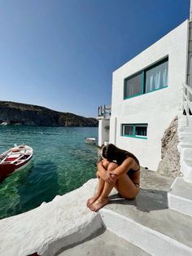
<svg viewBox="0 0 192 256"><path fill-rule="evenodd" d="M124 98L142 94L142 73L124 81Z"/></svg>

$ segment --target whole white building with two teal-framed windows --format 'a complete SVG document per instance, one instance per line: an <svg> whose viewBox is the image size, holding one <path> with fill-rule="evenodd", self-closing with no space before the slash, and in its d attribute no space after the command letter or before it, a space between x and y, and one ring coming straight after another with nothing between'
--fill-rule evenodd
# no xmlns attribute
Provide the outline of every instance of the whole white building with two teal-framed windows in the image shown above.
<svg viewBox="0 0 192 256"><path fill-rule="evenodd" d="M185 20L113 73L109 142L133 152L141 166L151 170L157 170L161 160L164 130L181 109L188 27Z"/></svg>

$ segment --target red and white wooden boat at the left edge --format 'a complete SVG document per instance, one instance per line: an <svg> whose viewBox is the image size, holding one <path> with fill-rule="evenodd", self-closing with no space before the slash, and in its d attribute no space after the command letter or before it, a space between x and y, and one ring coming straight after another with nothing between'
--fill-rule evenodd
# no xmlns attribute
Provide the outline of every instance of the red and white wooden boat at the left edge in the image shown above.
<svg viewBox="0 0 192 256"><path fill-rule="evenodd" d="M33 157L33 148L27 145L15 146L0 155L0 182L17 171L26 168Z"/></svg>

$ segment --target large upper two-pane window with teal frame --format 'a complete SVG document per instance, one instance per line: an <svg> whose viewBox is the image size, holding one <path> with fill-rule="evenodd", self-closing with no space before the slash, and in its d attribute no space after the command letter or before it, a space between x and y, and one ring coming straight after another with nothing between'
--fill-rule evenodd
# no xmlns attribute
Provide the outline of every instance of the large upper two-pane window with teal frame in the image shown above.
<svg viewBox="0 0 192 256"><path fill-rule="evenodd" d="M168 58L124 79L124 99L168 86Z"/></svg>

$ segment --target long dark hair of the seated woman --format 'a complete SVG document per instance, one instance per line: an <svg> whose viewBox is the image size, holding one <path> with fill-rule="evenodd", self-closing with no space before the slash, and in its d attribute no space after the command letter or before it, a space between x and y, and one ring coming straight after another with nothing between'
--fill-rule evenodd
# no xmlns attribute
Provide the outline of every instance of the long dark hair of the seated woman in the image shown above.
<svg viewBox="0 0 192 256"><path fill-rule="evenodd" d="M127 157L132 157L139 165L137 157L135 157L131 152L117 148L114 144L111 143L107 144L107 146L103 148L102 155L104 158L107 158L108 161L115 160L119 166Z"/></svg>

